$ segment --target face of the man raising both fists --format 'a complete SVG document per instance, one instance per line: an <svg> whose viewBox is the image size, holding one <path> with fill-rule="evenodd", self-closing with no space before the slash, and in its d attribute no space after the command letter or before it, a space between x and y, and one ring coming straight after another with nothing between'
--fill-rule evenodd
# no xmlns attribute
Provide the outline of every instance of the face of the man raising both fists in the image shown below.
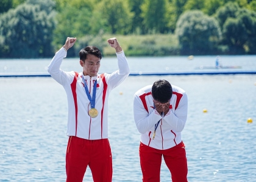
<svg viewBox="0 0 256 182"><path fill-rule="evenodd" d="M101 66L101 59L94 55L87 55L85 62L80 60L80 65L83 67L84 75L96 76Z"/></svg>

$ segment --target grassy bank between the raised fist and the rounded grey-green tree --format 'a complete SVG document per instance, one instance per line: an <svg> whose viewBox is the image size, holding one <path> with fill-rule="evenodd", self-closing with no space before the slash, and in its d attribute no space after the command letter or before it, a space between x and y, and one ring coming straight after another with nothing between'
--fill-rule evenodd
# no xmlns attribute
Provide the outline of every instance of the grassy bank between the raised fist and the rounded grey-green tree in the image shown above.
<svg viewBox="0 0 256 182"><path fill-rule="evenodd" d="M179 44L173 34L154 35L104 35L104 39L116 37L126 56L169 56L179 54ZM112 47L104 47L104 56L115 55Z"/></svg>

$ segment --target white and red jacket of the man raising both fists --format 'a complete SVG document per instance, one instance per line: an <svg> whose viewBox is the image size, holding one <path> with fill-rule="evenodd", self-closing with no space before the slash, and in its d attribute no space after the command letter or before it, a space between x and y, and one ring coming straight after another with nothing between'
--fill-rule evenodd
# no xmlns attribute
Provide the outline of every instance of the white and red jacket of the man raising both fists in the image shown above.
<svg viewBox="0 0 256 182"><path fill-rule="evenodd" d="M88 90L93 95L93 84L97 79L95 109L98 116L91 118L88 111L90 101L85 93L82 72L64 72L60 69L66 51L62 48L55 53L48 66L48 72L62 84L68 98L68 136L77 136L87 140L108 138L108 96L110 91L121 84L130 73L124 52L116 53L119 70L112 74L102 73L94 77L84 76Z"/></svg>

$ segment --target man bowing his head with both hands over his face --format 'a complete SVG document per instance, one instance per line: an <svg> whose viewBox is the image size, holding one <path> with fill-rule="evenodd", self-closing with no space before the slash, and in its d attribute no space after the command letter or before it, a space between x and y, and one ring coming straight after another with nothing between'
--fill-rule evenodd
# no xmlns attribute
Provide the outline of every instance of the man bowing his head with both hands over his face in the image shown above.
<svg viewBox="0 0 256 182"><path fill-rule="evenodd" d="M133 114L141 133L140 164L143 182L160 181L162 157L173 182L187 181L187 157L181 138L187 112L185 91L164 79L135 93Z"/></svg>

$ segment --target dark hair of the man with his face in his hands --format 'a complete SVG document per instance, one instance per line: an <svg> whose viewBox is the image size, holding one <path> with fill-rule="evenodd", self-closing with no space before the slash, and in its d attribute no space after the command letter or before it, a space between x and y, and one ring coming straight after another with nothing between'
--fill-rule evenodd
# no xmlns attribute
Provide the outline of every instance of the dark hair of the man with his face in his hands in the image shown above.
<svg viewBox="0 0 256 182"><path fill-rule="evenodd" d="M160 103L167 103L172 96L171 84L165 79L159 79L155 81L152 86L152 96Z"/></svg>

